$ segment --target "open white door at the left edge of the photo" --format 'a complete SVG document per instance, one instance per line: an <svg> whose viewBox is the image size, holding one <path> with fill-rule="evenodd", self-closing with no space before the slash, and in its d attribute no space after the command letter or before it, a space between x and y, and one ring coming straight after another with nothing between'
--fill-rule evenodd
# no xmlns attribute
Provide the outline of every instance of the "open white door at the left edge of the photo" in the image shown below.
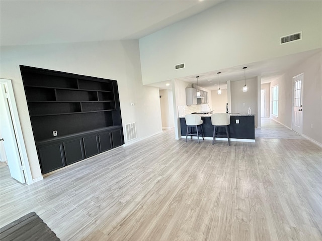
<svg viewBox="0 0 322 241"><path fill-rule="evenodd" d="M7 100L5 85L0 84L0 139L5 147L10 174L21 183L25 183L16 135Z"/></svg>

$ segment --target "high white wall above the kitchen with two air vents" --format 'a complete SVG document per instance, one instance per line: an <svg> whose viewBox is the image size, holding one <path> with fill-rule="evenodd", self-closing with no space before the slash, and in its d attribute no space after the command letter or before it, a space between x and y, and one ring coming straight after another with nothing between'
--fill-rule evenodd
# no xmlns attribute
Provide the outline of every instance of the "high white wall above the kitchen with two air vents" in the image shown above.
<svg viewBox="0 0 322 241"><path fill-rule="evenodd" d="M321 1L224 1L139 40L143 83L321 48L321 9ZM299 31L301 41L279 44Z"/></svg>

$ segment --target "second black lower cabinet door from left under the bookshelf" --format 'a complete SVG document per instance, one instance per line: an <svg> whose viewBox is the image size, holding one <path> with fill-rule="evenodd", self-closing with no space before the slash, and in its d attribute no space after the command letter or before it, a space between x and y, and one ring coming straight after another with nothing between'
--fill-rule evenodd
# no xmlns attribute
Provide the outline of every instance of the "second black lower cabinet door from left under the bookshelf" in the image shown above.
<svg viewBox="0 0 322 241"><path fill-rule="evenodd" d="M67 165L85 159L82 139L64 142L64 149Z"/></svg>

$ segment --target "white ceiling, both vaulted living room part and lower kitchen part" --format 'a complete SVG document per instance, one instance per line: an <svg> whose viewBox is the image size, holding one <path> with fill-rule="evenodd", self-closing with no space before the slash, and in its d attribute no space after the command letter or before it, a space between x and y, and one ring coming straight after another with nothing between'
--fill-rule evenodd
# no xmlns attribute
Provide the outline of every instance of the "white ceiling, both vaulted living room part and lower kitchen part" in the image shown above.
<svg viewBox="0 0 322 241"><path fill-rule="evenodd" d="M223 0L224 1L224 0ZM0 44L33 45L104 40L139 39L171 24L201 13L223 1L213 0L0 0ZM182 76L183 81L196 83L209 90L225 88L226 81L262 76L270 82L285 70L317 51L307 51L257 63ZM152 86L171 88L164 81Z"/></svg>

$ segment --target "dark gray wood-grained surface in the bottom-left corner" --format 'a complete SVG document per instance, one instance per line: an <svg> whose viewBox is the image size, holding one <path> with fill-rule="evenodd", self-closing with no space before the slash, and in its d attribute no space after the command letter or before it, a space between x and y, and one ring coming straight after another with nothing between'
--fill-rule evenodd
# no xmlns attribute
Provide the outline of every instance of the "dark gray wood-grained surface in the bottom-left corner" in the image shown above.
<svg viewBox="0 0 322 241"><path fill-rule="evenodd" d="M31 212L0 228L0 240L57 241L60 239L35 212Z"/></svg>

